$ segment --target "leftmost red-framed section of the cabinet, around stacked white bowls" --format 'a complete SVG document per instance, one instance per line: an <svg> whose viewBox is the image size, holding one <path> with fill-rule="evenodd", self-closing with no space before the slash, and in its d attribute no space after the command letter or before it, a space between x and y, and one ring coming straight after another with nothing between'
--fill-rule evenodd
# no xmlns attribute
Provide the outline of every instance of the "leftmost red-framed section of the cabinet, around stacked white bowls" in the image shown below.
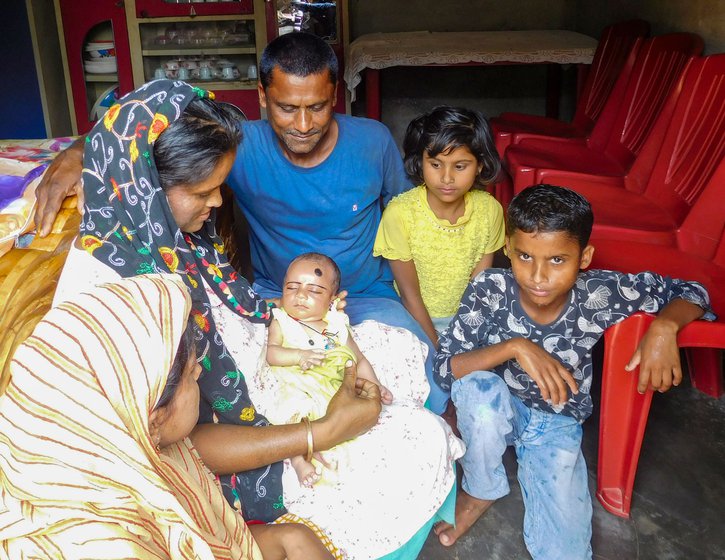
<svg viewBox="0 0 725 560"><path fill-rule="evenodd" d="M73 132L88 132L94 123L92 112L99 99L118 87L133 89L130 46L123 0L55 0L56 14L62 22L63 54L66 67ZM112 42L116 70L87 70L89 43Z"/></svg>

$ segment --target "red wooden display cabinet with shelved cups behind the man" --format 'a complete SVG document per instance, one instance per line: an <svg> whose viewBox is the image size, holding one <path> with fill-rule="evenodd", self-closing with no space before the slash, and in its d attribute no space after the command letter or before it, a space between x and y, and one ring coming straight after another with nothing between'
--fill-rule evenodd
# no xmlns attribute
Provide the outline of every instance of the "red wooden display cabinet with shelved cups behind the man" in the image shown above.
<svg viewBox="0 0 725 560"><path fill-rule="evenodd" d="M259 58L268 40L295 29L332 46L340 64L335 109L345 112L346 0L55 0L55 6L76 133L93 126L104 94L117 88L123 95L160 76L212 90L259 119ZM89 43L105 41L114 44L117 70L88 72Z"/></svg>

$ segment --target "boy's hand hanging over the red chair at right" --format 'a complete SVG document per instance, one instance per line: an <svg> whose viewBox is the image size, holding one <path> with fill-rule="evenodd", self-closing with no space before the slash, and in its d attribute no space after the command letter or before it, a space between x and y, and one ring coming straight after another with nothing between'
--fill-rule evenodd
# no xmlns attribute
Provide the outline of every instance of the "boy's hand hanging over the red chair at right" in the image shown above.
<svg viewBox="0 0 725 560"><path fill-rule="evenodd" d="M677 331L676 323L657 318L644 333L637 350L624 367L633 371L639 366L637 391L640 393L644 393L650 385L655 391L664 393L682 381Z"/></svg>

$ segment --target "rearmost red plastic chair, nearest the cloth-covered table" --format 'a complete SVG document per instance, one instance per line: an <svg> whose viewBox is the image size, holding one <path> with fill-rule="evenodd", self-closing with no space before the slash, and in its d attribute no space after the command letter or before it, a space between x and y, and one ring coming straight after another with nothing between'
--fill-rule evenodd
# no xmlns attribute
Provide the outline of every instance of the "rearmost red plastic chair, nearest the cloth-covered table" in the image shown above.
<svg viewBox="0 0 725 560"><path fill-rule="evenodd" d="M638 38L649 35L649 23L641 19L615 23L604 29L591 68L577 101L571 123L529 115L526 113L502 113L489 120L499 156L504 157L506 148L518 144L523 138L555 136L561 138L585 138L594 128L605 103L618 103L611 98L618 76L632 69L634 58L625 66Z"/></svg>

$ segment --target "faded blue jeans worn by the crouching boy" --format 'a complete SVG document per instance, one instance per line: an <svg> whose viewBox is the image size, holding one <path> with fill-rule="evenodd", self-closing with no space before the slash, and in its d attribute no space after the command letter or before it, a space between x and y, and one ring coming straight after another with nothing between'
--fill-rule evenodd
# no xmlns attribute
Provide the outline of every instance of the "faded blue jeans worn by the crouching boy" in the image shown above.
<svg viewBox="0 0 725 560"><path fill-rule="evenodd" d="M460 459L463 490L483 500L508 494L502 458L513 445L524 499L524 541L531 556L591 558L592 500L581 424L527 407L489 371L474 371L455 381L451 398L466 442Z"/></svg>

